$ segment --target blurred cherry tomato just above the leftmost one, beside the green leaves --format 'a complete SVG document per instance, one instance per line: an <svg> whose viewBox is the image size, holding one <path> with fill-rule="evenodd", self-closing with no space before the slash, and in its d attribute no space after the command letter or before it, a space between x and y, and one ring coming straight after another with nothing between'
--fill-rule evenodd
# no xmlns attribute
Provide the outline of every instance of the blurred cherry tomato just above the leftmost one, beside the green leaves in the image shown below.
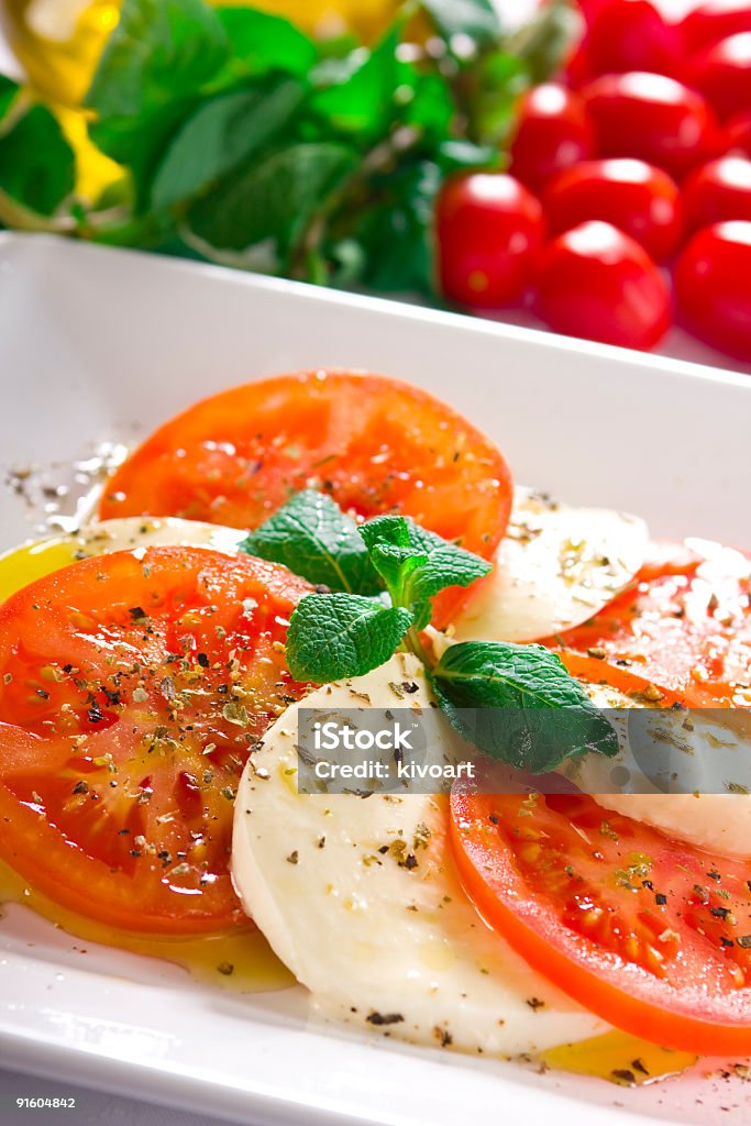
<svg viewBox="0 0 751 1126"><path fill-rule="evenodd" d="M594 152L594 131L579 95L544 82L525 96L511 144L511 172L533 191Z"/></svg>

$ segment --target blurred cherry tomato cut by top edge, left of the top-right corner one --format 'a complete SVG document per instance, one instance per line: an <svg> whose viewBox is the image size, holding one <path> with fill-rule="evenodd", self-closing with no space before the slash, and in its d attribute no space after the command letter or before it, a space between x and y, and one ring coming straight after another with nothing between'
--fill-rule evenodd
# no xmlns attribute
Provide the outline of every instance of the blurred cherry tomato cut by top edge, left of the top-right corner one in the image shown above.
<svg viewBox="0 0 751 1126"><path fill-rule="evenodd" d="M623 71L673 74L681 54L681 37L650 0L609 0L592 17L587 51L597 74Z"/></svg>

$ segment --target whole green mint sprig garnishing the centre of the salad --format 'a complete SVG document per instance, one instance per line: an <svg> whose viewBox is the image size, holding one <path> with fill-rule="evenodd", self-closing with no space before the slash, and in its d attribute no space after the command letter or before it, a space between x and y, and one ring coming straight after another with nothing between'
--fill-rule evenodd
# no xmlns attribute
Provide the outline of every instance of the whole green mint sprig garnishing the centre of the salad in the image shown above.
<svg viewBox="0 0 751 1126"><path fill-rule="evenodd" d="M251 533L243 551L331 589L307 595L292 615L287 664L296 680L363 676L401 647L424 663L457 731L495 759L534 774L574 756L618 752L605 715L542 645L464 642L432 660L420 638L432 599L468 587L491 565L409 517L379 516L358 527L330 497L307 490Z"/></svg>

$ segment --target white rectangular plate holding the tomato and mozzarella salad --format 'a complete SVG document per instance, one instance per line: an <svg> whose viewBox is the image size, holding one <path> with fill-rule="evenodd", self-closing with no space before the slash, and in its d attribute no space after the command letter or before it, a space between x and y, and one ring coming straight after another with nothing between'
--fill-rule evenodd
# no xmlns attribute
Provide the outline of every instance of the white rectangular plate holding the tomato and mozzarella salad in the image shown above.
<svg viewBox="0 0 751 1126"><path fill-rule="evenodd" d="M751 546L749 376L0 234L0 476L132 441L233 383L324 366L430 388L489 431L525 483L631 509L658 535ZM19 498L0 490L0 549L33 530ZM740 1082L700 1073L632 1091L538 1075L309 1025L301 990L242 997L81 947L21 908L0 921L3 1065L261 1126L455 1126L490 1115L617 1126L626 1111L643 1124L730 1126L751 1115L751 1085Z"/></svg>

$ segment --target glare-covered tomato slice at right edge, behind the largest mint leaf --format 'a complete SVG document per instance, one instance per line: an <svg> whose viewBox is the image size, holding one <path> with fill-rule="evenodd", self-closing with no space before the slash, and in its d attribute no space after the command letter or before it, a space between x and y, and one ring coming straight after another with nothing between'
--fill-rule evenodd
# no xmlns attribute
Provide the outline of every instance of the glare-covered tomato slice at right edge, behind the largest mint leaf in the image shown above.
<svg viewBox="0 0 751 1126"><path fill-rule="evenodd" d="M573 674L617 688L627 670L665 704L751 707L751 557L701 539L652 556L631 590L547 644Z"/></svg>

